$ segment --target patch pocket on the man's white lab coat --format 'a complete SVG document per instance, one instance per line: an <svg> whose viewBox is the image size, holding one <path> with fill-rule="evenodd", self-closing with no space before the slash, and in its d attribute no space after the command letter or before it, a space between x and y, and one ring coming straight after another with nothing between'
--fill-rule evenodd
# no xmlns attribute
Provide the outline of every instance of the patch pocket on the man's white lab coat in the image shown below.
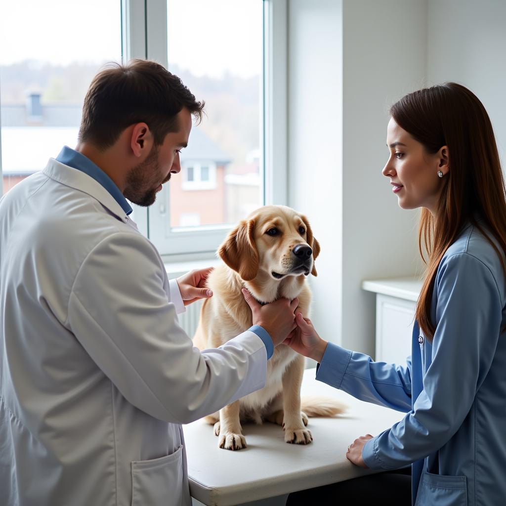
<svg viewBox="0 0 506 506"><path fill-rule="evenodd" d="M183 445L153 460L132 462L132 506L181 506Z"/></svg>

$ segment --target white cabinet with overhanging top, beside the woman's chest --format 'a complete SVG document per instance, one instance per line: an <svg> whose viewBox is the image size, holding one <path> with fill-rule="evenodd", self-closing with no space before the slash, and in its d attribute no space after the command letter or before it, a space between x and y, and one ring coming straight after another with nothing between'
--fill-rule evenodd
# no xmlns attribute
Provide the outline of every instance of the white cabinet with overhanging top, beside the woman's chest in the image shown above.
<svg viewBox="0 0 506 506"><path fill-rule="evenodd" d="M402 365L411 355L411 332L421 284L414 278L362 283L364 290L376 293L376 361Z"/></svg>

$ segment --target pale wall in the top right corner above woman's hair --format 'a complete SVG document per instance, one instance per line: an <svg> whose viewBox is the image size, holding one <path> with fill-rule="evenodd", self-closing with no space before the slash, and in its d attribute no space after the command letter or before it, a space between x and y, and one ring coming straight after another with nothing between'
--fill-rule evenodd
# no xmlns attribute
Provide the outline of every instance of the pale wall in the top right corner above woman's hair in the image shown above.
<svg viewBox="0 0 506 506"><path fill-rule="evenodd" d="M429 83L471 89L490 116L506 163L506 2L429 0Z"/></svg>

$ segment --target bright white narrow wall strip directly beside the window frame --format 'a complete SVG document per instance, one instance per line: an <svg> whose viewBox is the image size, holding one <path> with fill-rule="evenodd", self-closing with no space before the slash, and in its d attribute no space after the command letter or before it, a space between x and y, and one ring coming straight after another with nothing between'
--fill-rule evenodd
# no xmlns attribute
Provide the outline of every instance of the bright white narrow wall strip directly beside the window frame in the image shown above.
<svg viewBox="0 0 506 506"><path fill-rule="evenodd" d="M288 2L288 205L321 245L313 316L339 342L342 284L342 3Z"/></svg>

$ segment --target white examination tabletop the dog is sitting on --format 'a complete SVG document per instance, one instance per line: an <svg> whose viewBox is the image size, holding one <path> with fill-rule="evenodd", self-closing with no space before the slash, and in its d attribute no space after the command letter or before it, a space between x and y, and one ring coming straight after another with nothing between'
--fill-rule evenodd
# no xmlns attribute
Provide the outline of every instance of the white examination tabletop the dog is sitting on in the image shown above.
<svg viewBox="0 0 506 506"><path fill-rule="evenodd" d="M314 441L307 446L285 443L281 427L267 423L243 427L247 448L223 450L203 420L184 426L191 495L204 504L231 506L373 473L354 466L346 458L347 447L359 436L388 429L403 413L317 382L315 369L306 369L302 393L349 406L339 417L310 418Z"/></svg>

